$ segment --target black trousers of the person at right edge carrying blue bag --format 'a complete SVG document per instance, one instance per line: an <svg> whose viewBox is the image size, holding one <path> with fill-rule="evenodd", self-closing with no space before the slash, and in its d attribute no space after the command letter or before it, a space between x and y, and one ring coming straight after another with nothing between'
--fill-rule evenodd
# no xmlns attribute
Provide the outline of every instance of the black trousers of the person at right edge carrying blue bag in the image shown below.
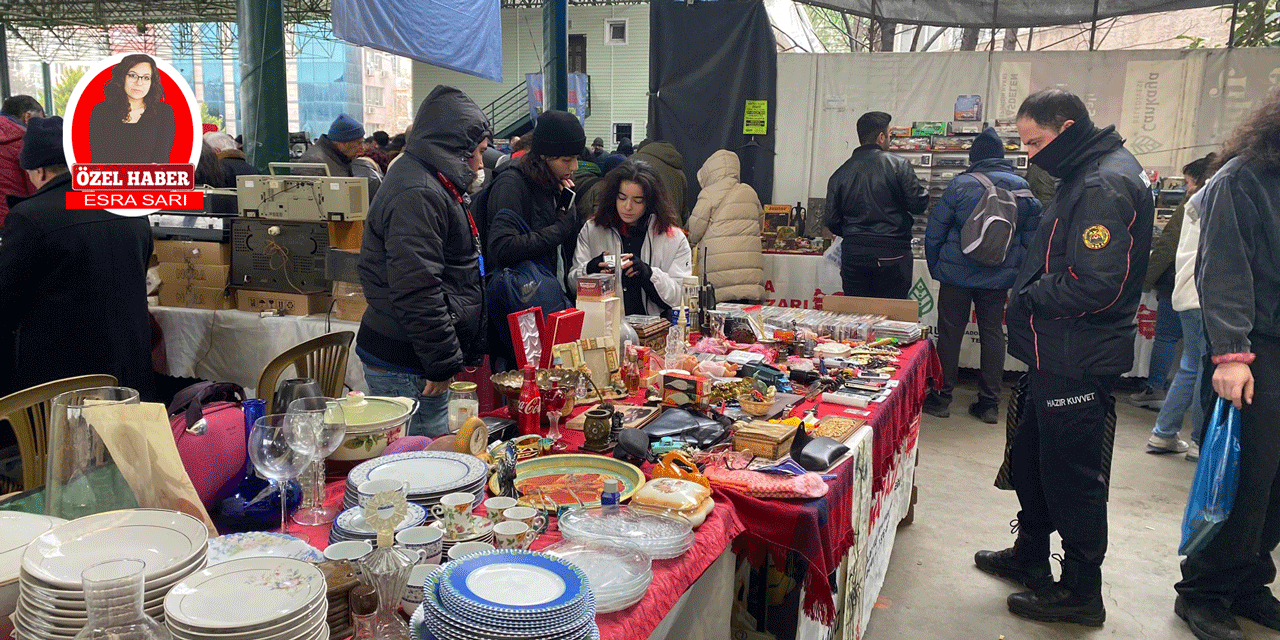
<svg viewBox="0 0 1280 640"><path fill-rule="evenodd" d="M1257 360L1251 366L1253 403L1240 411L1240 484L1222 529L1183 561L1176 589L1189 600L1251 598L1276 577L1271 552L1280 543L1280 338L1249 339Z"/></svg>

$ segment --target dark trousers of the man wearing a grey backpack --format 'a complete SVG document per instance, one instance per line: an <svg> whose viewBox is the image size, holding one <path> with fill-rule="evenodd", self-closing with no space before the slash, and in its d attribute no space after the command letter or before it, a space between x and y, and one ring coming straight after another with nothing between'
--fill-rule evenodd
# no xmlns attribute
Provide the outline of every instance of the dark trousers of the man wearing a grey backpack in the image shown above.
<svg viewBox="0 0 1280 640"><path fill-rule="evenodd" d="M956 375L960 372L960 344L969 328L969 308L978 315L978 339L982 342L982 376L978 379L978 403L1000 406L1000 380L1005 374L1005 289L974 289L941 283L938 287L938 358L942 360L942 390L938 398L951 403Z"/></svg>

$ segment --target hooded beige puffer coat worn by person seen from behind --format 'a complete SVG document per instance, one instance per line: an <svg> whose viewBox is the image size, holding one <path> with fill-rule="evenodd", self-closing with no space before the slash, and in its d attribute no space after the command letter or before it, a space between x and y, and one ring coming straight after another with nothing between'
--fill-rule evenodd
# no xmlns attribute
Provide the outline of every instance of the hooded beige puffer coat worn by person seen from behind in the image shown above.
<svg viewBox="0 0 1280 640"><path fill-rule="evenodd" d="M716 300L764 300L760 256L760 198L742 184L737 154L719 150L698 170L703 191L689 216L689 242L707 247L699 273L716 287ZM701 255L700 252L698 253Z"/></svg>

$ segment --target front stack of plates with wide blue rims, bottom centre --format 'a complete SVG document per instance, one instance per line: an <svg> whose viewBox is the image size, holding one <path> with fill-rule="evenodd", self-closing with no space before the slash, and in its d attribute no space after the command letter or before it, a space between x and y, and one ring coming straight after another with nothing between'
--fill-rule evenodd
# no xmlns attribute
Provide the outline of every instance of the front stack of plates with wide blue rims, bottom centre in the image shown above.
<svg viewBox="0 0 1280 640"><path fill-rule="evenodd" d="M544 553L495 549L443 564L413 616L421 640L598 640L586 575Z"/></svg>

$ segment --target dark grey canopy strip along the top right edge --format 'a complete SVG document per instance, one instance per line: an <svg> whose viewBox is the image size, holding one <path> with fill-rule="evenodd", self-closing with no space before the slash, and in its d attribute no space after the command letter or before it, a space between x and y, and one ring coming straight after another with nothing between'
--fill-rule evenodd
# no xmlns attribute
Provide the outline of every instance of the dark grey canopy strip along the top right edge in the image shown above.
<svg viewBox="0 0 1280 640"><path fill-rule="evenodd" d="M796 0L864 18L934 27L1051 27L1119 15L1221 6L1226 0ZM1229 3L1228 3L1229 4Z"/></svg>

